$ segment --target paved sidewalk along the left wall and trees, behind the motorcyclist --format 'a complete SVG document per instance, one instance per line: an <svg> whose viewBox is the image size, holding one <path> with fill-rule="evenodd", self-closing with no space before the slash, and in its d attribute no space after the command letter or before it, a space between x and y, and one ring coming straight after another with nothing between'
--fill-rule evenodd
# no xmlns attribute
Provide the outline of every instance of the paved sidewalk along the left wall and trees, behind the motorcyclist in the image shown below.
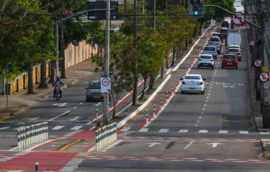
<svg viewBox="0 0 270 172"><path fill-rule="evenodd" d="M76 64L76 78L75 66L71 66L66 69L66 78L61 79L66 87L73 85L79 80L92 75L100 75L94 72L95 65L92 68L91 58ZM61 71L60 71L61 72ZM48 82L48 80L47 80ZM27 90L23 90L20 93L14 93L8 96L8 109L7 109L7 96L0 96L0 120L8 118L9 116L16 115L28 107L32 107L35 104L47 99L52 95L53 87L51 83L48 83L48 89L37 89L38 84L34 84L35 94L26 94Z"/></svg>

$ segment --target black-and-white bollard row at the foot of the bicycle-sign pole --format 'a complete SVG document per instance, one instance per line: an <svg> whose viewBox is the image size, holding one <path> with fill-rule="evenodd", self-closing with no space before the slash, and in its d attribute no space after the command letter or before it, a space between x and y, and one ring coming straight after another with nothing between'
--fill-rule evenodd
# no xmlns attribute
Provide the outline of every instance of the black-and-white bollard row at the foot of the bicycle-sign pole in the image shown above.
<svg viewBox="0 0 270 172"><path fill-rule="evenodd" d="M95 147L97 151L117 140L117 122L103 126L95 131Z"/></svg>

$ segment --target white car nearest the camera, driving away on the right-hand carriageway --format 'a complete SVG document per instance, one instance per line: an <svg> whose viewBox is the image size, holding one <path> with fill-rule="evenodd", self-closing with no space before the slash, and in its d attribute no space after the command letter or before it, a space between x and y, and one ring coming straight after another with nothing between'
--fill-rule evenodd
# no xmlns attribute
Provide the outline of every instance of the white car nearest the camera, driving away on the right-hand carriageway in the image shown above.
<svg viewBox="0 0 270 172"><path fill-rule="evenodd" d="M181 93L185 92L200 92L204 94L204 80L199 74L187 74L182 79Z"/></svg>

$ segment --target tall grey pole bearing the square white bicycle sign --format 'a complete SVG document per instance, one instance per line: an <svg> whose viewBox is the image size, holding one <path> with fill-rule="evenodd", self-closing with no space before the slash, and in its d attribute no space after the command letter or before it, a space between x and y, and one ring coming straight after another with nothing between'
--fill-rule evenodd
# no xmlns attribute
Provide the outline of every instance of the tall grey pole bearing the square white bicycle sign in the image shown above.
<svg viewBox="0 0 270 172"><path fill-rule="evenodd" d="M105 33L105 67L104 67L104 76L109 77L109 60L110 60L110 0L107 0L106 7L106 33ZM103 115L103 124L108 124L108 103L109 93L104 94L104 115Z"/></svg>

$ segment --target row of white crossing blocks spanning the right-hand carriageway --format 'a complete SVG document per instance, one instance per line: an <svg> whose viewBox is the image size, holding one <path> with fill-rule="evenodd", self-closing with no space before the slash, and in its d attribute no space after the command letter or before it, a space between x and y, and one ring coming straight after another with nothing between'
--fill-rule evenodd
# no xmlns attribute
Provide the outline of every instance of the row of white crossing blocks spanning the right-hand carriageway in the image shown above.
<svg viewBox="0 0 270 172"><path fill-rule="evenodd" d="M208 130L188 130L188 129L180 129L178 131L174 130L170 130L170 128L155 128L152 129L151 128L140 128L139 131L130 131L131 127L123 127L120 131L121 132L158 132L158 133L167 133L167 132L171 132L171 133L208 133L208 134L243 134L243 135L247 135L247 134L260 134L260 135L269 135L269 132L249 132L249 131L228 131L228 130L219 130L219 131L208 131ZM120 134L121 136L121 134Z"/></svg>

